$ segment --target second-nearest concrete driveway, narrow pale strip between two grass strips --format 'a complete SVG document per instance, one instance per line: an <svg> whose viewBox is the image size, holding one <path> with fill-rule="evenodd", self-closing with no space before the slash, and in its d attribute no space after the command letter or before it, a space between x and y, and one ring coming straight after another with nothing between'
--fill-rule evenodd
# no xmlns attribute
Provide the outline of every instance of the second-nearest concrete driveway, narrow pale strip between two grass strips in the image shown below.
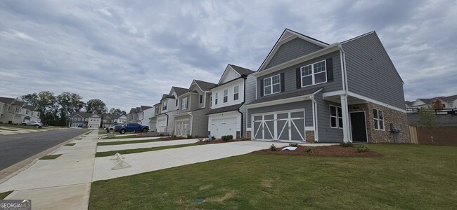
<svg viewBox="0 0 457 210"><path fill-rule="evenodd" d="M105 151L120 151L126 149L136 149L136 148L150 148L157 146L172 146L179 144L193 144L197 143L198 139L182 139L182 140L172 140L172 141L154 141L146 143L136 143L136 144L118 144L118 145L107 145L107 146L97 146L97 152Z"/></svg>

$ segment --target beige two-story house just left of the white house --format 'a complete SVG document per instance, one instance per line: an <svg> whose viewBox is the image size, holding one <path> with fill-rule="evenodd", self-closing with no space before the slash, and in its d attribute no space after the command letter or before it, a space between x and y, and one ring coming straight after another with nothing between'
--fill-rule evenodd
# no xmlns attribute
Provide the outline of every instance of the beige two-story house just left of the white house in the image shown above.
<svg viewBox="0 0 457 210"><path fill-rule="evenodd" d="M207 137L210 111L210 89L214 83L193 80L188 92L179 96L179 112L174 116L174 134Z"/></svg>

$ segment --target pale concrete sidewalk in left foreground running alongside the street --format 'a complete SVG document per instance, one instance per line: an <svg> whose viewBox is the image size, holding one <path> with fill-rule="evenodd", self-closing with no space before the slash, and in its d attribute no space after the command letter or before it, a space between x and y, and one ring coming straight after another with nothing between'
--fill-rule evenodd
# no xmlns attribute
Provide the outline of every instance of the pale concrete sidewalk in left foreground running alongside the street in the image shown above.
<svg viewBox="0 0 457 210"><path fill-rule="evenodd" d="M75 138L75 146L63 146L53 154L56 160L37 160L22 172L0 183L0 192L14 190L7 200L32 200L32 209L87 209L97 132ZM80 136L81 137L81 136ZM64 205L64 206L63 206Z"/></svg>

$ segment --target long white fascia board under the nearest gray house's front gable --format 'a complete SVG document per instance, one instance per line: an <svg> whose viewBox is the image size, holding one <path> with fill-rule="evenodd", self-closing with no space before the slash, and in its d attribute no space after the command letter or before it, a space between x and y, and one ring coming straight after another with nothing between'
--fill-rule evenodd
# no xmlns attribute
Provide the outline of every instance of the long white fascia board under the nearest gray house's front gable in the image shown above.
<svg viewBox="0 0 457 210"><path fill-rule="evenodd" d="M340 50L339 48L339 43L333 43L331 45L328 45L327 48L323 48L321 50L317 50L316 52L311 52L309 53L308 55L303 55L302 57L297 57L295 59L292 59L288 62L284 62L282 64L279 64L277 66L273 66L269 69L264 69L262 71L258 71L258 72L255 72L255 73L252 73L253 76L255 77L259 77L259 76L264 76L268 73L272 73L274 71L278 71L278 70L281 70L281 69L285 69L289 66L293 66L295 64L300 64L301 62L305 62L309 59L313 59L313 58L316 58L316 57L319 57L319 56L322 56L322 55L326 55L330 52L333 52L333 51L336 51L336 50Z"/></svg>

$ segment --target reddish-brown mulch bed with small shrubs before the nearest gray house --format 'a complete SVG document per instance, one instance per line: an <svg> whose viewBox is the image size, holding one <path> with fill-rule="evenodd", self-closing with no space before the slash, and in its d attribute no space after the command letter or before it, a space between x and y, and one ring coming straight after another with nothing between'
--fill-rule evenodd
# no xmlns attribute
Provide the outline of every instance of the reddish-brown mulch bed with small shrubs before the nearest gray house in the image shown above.
<svg viewBox="0 0 457 210"><path fill-rule="evenodd" d="M277 151L264 149L261 151L255 151L253 153L274 155L305 155L314 157L382 157L382 154L371 150L365 153L358 153L356 146L313 146L313 153L307 152L307 146L297 146L295 151L281 151L283 148L284 147L276 148Z"/></svg>

